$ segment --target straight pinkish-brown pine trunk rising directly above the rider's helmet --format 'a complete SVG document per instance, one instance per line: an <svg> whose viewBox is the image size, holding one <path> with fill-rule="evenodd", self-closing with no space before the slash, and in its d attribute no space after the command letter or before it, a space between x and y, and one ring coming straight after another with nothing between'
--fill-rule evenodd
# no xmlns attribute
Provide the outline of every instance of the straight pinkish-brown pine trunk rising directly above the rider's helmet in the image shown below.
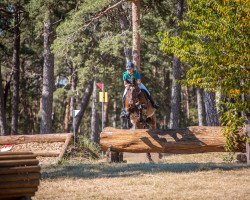
<svg viewBox="0 0 250 200"><path fill-rule="evenodd" d="M140 72L140 0L132 0L132 26L133 26L133 62L138 72Z"/></svg>

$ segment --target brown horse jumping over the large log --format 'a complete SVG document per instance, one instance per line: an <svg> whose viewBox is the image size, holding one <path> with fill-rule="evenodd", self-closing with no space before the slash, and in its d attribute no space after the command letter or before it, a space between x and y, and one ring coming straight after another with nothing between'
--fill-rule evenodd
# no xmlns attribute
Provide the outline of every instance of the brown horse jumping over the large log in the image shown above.
<svg viewBox="0 0 250 200"><path fill-rule="evenodd" d="M123 113L123 128L134 129L156 129L156 109L152 106L147 97L147 92L141 90L134 79L131 77L132 83L125 97L125 113ZM147 158L153 162L151 154L147 153ZM159 154L159 158L162 155Z"/></svg>

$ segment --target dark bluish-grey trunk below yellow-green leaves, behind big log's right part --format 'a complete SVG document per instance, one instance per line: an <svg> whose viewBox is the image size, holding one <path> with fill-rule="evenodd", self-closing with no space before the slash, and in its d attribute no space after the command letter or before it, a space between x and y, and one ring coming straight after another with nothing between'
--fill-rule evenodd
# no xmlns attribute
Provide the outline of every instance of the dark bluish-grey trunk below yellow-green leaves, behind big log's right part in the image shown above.
<svg viewBox="0 0 250 200"><path fill-rule="evenodd" d="M219 119L215 105L215 93L211 91L204 92L204 102L207 126L218 126Z"/></svg>

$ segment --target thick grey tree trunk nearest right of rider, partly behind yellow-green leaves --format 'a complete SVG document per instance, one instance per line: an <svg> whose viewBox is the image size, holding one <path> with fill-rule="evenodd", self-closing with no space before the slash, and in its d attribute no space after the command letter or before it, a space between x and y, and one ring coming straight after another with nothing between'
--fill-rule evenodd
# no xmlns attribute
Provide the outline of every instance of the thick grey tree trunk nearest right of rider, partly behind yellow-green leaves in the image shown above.
<svg viewBox="0 0 250 200"><path fill-rule="evenodd" d="M184 0L178 0L176 17L182 20L184 12ZM176 25L176 35L178 35L178 26ZM170 128L179 128L180 126L180 111L181 111L181 62L176 56L173 57L173 82L171 94L171 113L170 113Z"/></svg>

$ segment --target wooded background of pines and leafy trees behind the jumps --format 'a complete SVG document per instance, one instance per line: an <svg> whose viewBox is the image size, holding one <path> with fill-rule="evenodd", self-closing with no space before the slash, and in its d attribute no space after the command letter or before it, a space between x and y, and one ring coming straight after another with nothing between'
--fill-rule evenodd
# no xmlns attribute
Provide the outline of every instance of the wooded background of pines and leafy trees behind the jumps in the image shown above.
<svg viewBox="0 0 250 200"><path fill-rule="evenodd" d="M0 134L73 131L79 109L75 131L98 142L98 82L109 95L104 126L120 128L131 5L1 0ZM250 107L249 1L141 0L140 7L140 71L160 104L158 128L225 125L227 149L236 150Z"/></svg>

